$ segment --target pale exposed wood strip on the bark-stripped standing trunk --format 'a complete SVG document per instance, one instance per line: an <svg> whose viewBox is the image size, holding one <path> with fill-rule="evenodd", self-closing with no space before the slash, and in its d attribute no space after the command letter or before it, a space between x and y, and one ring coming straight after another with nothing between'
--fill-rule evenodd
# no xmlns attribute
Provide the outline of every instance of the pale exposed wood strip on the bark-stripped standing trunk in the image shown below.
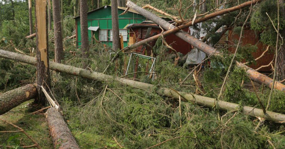
<svg viewBox="0 0 285 149"><path fill-rule="evenodd" d="M46 1L36 0L36 17L38 28L38 49L41 53L41 61L47 67L47 43L46 43Z"/></svg>

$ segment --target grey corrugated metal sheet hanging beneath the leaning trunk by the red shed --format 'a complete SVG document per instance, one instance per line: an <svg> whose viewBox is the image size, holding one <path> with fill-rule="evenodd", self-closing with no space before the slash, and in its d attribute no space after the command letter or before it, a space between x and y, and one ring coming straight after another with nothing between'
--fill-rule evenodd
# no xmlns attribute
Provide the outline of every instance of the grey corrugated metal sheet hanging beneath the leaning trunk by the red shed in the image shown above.
<svg viewBox="0 0 285 149"><path fill-rule="evenodd" d="M204 52L194 48L189 52L185 64L199 64L205 59L205 57L206 54Z"/></svg>

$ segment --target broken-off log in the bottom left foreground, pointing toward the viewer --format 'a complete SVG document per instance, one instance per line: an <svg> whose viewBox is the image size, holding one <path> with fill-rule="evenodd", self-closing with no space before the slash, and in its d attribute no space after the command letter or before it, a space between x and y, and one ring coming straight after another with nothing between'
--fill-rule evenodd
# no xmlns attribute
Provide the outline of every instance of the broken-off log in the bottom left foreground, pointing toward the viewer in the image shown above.
<svg viewBox="0 0 285 149"><path fill-rule="evenodd" d="M54 148L79 149L62 115L55 107L46 111L46 122L49 126L49 134L52 137Z"/></svg>

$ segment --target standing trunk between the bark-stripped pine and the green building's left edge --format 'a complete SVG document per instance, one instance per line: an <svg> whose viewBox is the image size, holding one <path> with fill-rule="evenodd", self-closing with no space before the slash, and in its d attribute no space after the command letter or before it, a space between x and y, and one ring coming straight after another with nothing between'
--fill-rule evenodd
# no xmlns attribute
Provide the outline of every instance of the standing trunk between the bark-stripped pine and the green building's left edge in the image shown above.
<svg viewBox="0 0 285 149"><path fill-rule="evenodd" d="M52 15L53 15L53 29L54 29L54 59L55 62L60 63L63 59L63 44L62 44L62 30L61 30L61 7L59 0L52 1Z"/></svg>

